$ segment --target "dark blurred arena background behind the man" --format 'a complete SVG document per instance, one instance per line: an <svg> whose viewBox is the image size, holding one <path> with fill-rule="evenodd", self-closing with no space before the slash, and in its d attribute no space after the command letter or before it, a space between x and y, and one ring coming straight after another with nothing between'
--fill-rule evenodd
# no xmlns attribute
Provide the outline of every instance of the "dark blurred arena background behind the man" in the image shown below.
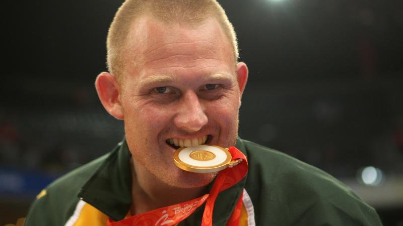
<svg viewBox="0 0 403 226"><path fill-rule="evenodd" d="M352 187L403 225L403 1L222 0L250 76L242 138ZM123 137L94 88L122 0L7 1L2 13L0 225Z"/></svg>

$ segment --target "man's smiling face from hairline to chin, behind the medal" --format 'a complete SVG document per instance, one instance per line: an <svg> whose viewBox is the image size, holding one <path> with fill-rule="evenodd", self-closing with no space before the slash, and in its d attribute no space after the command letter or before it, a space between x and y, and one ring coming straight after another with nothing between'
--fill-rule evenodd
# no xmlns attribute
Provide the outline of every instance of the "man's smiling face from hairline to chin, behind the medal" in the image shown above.
<svg viewBox="0 0 403 226"><path fill-rule="evenodd" d="M119 98L133 160L172 186L207 185L215 174L183 171L173 153L235 144L241 93L230 41L214 19L190 26L142 17L127 47Z"/></svg>

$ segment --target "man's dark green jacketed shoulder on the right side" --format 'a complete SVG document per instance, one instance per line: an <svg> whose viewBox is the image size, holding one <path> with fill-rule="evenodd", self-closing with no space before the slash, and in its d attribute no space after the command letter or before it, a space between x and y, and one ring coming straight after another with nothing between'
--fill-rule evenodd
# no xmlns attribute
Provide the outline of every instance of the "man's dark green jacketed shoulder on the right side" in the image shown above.
<svg viewBox="0 0 403 226"><path fill-rule="evenodd" d="M258 207L256 223L270 214L272 223L281 225L381 225L371 206L328 173L285 153L242 142L249 163L245 189Z"/></svg>

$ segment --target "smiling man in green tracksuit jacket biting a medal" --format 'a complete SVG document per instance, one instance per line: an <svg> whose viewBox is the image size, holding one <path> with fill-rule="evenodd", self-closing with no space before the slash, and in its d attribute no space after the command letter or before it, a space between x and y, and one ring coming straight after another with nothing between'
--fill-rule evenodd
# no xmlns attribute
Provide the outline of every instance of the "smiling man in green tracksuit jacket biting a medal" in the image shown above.
<svg viewBox="0 0 403 226"><path fill-rule="evenodd" d="M107 50L109 72L95 85L109 114L124 121L125 139L44 189L26 225L136 225L137 216L153 214L142 224L208 225L217 172L187 172L173 161L178 147L200 144L236 145L249 164L210 202L214 225L380 225L375 210L333 177L237 138L248 69L237 62L235 32L215 0L127 0ZM168 218L165 206L193 199L193 213L173 207L191 214Z"/></svg>

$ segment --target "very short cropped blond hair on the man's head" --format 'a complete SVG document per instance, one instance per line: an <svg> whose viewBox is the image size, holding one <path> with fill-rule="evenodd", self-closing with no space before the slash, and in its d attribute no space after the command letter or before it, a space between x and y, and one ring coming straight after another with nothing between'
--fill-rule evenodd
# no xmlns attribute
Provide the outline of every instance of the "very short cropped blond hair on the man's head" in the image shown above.
<svg viewBox="0 0 403 226"><path fill-rule="evenodd" d="M238 42L234 27L216 0L126 0L116 12L106 42L107 67L118 80L123 71L122 56L130 25L143 15L151 15L168 23L178 21L189 24L199 24L213 16L233 46L235 62L238 60Z"/></svg>

